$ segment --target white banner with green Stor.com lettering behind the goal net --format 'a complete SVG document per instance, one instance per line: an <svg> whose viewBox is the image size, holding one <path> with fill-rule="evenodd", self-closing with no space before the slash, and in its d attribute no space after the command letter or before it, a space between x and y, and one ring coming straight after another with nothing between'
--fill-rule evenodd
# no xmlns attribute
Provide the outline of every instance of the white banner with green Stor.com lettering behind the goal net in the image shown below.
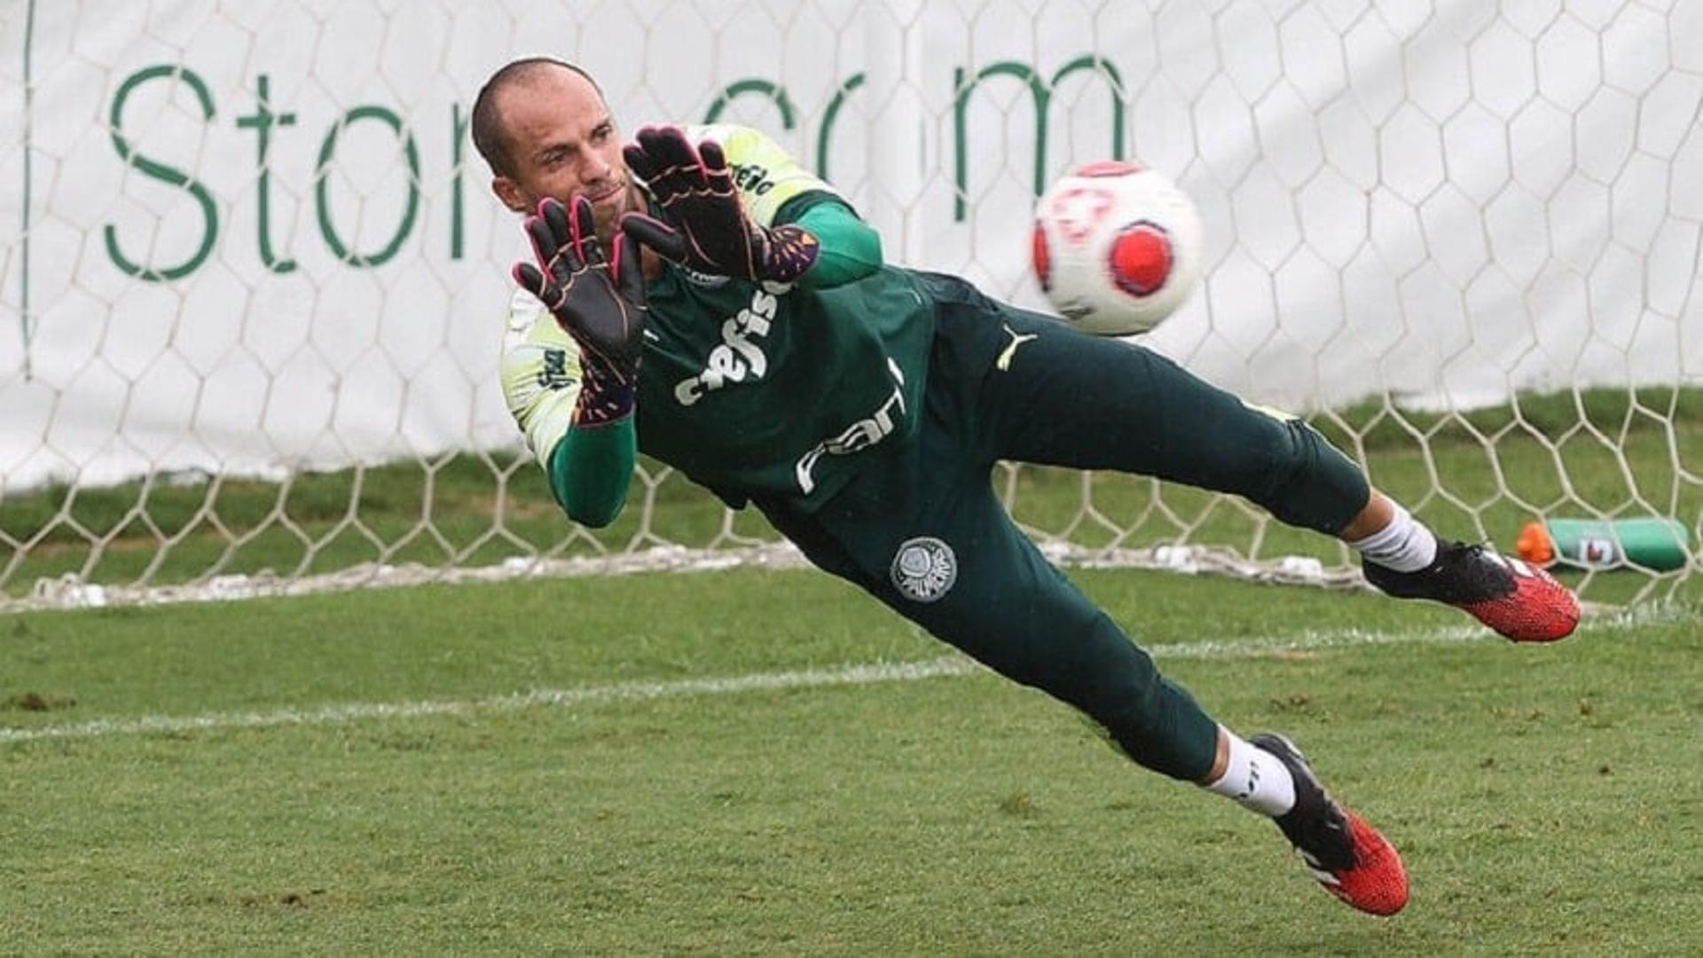
<svg viewBox="0 0 1703 958"><path fill-rule="evenodd" d="M514 445L467 128L523 55L1029 307L1039 188L1156 167L1207 271L1150 344L1264 402L1698 385L1700 7L0 0L0 493Z"/></svg>

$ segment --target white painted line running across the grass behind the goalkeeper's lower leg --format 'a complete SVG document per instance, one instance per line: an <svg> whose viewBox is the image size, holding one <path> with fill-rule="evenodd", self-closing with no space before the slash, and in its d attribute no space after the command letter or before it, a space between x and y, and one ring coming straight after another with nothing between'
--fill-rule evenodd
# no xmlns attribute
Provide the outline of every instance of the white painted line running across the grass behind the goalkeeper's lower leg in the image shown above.
<svg viewBox="0 0 1703 958"><path fill-rule="evenodd" d="M1638 622L1662 622L1684 615L1677 609L1643 609L1621 615L1603 615L1580 626L1580 632L1601 631ZM1335 648L1444 644L1500 641L1480 626L1451 626L1422 632L1378 632L1369 629L1337 629L1301 632L1281 639L1230 639L1150 646L1158 660L1201 658L1257 658L1282 653L1306 653ZM344 724L368 719L405 719L421 716L458 716L475 713L513 713L542 706L572 707L601 702L642 702L654 699L681 699L691 695L737 695L777 689L821 689L833 685L872 685L877 682L920 682L925 678L962 677L984 672L964 656L942 656L925 661L875 661L841 665L834 668L806 668L797 672L758 672L727 678L679 678L674 682L620 682L613 685L586 685L581 689L538 689L514 695L484 699L448 699L417 702L349 702L317 709L278 709L269 713L204 713L199 716L141 716L124 719L94 719L73 724L46 724L39 728L0 728L0 745L20 742L104 738L118 735L221 731L237 728L279 728L305 724Z"/></svg>

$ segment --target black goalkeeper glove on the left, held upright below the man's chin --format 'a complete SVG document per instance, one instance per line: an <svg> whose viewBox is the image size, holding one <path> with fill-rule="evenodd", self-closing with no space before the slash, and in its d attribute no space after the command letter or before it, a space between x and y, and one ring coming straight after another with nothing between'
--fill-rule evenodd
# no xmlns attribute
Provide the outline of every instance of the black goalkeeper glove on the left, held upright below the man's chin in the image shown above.
<svg viewBox="0 0 1703 958"><path fill-rule="evenodd" d="M553 198L526 216L538 266L514 264L514 281L550 310L579 346L582 370L574 423L596 426L627 416L639 389L639 356L649 314L639 245L615 232L613 257L603 259L591 201L574 196L569 216Z"/></svg>

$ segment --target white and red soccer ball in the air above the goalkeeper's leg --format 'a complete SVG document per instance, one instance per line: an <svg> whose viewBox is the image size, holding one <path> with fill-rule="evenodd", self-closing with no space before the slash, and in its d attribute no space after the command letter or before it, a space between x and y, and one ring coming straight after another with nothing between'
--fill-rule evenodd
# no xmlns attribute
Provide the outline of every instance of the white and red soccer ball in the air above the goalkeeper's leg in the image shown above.
<svg viewBox="0 0 1703 958"><path fill-rule="evenodd" d="M1034 268L1064 319L1098 336L1148 332L1201 278L1201 213L1165 174L1105 160L1035 205Z"/></svg>

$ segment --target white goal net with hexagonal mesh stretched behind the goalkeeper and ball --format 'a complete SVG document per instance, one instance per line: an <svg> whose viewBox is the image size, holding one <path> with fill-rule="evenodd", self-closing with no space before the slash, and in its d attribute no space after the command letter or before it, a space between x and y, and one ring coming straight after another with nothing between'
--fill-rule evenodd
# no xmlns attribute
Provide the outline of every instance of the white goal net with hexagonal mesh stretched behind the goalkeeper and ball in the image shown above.
<svg viewBox="0 0 1703 958"><path fill-rule="evenodd" d="M1034 196L1173 177L1206 274L1146 343L1304 413L1441 532L1703 513L1703 2L0 2L0 602L785 552L640 462L569 525L497 389L468 113L521 55L618 121L760 126L889 259L1027 307ZM1352 580L1233 498L1001 467L1064 559ZM753 552L754 551L754 552ZM576 566L577 563L577 566Z"/></svg>

